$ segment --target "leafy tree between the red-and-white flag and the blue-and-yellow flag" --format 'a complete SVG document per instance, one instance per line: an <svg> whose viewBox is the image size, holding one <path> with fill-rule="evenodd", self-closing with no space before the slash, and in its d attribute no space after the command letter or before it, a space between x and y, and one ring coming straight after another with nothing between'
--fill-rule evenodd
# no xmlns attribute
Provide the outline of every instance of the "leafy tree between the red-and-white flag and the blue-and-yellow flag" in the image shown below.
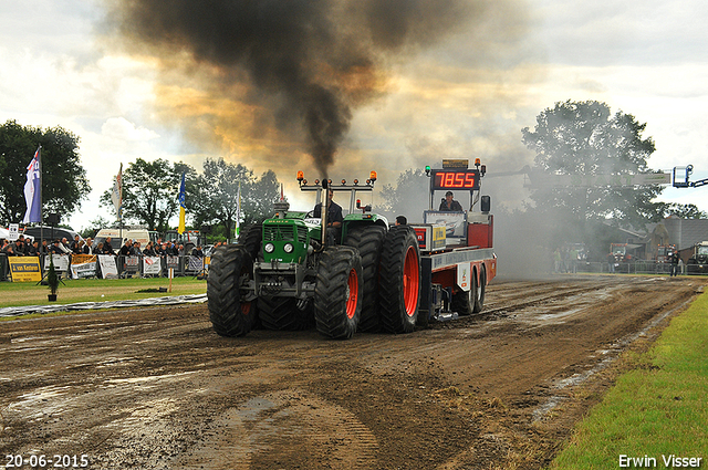
<svg viewBox="0 0 708 470"><path fill-rule="evenodd" d="M178 213L177 199L183 171L187 173L187 194L194 192L196 171L189 165L158 158L146 161L136 159L123 170L123 218L137 221L148 230L165 232L169 229L169 219ZM189 181L189 184L187 184ZM191 191L189 189L192 189ZM111 190L101 196L101 202L114 209ZM187 200L187 205L194 203Z"/></svg>

